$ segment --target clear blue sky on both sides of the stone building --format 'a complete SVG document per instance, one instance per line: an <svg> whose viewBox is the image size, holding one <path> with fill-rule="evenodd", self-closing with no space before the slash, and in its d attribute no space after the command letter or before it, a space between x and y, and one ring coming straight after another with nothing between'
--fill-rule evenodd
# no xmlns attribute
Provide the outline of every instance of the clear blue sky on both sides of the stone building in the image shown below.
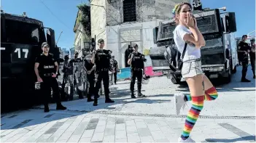
<svg viewBox="0 0 256 143"><path fill-rule="evenodd" d="M227 12L236 13L236 37L255 30L255 0L201 1L203 7L227 7ZM1 9L15 15L26 12L28 17L42 21L44 27L55 30L56 41L63 31L58 46L69 49L74 47L73 28L77 17L77 5L85 2L88 0L1 0Z"/></svg>

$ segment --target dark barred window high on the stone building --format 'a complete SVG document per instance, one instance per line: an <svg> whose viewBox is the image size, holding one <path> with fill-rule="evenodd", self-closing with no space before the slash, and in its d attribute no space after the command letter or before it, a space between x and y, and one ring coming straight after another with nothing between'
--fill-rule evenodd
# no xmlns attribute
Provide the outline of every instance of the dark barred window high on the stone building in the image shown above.
<svg viewBox="0 0 256 143"><path fill-rule="evenodd" d="M136 21L136 0L123 1L123 22Z"/></svg>

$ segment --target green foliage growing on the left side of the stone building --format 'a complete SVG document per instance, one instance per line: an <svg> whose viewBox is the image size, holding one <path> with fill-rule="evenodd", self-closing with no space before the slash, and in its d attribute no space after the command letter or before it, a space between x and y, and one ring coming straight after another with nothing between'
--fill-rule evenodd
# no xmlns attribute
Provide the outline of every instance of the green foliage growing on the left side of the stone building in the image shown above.
<svg viewBox="0 0 256 143"><path fill-rule="evenodd" d="M91 35L91 33L90 33L90 6L88 6L87 4L79 4L77 7L81 12L77 17L77 20L79 23L82 23L82 25L84 27L85 34L89 38Z"/></svg>

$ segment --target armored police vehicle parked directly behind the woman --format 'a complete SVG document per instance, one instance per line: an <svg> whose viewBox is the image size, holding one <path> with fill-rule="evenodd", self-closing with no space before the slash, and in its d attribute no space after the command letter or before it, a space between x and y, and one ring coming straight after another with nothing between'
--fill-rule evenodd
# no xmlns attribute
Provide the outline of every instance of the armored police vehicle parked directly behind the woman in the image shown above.
<svg viewBox="0 0 256 143"><path fill-rule="evenodd" d="M225 9L225 7L224 7ZM234 12L220 13L220 9L203 9L193 11L198 28L203 34L206 46L201 47L202 70L209 78L224 78L230 82L231 74L236 73L236 18ZM181 71L171 70L164 57L166 48L174 38L174 20L163 21L154 29L156 47L150 49L154 71L162 71L171 78L172 83L180 83ZM174 46L174 43L172 43Z"/></svg>

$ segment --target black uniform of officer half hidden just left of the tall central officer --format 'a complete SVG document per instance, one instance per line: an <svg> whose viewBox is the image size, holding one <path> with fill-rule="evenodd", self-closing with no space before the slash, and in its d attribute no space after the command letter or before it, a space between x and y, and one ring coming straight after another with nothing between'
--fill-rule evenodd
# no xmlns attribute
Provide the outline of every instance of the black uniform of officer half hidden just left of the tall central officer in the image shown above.
<svg viewBox="0 0 256 143"><path fill-rule="evenodd" d="M92 54L88 54L85 57L85 68L86 70L91 70L93 68L93 63L91 62L93 55ZM87 79L90 83L90 88L89 88L89 94L88 94L88 100L91 99L91 95L94 94L95 92L95 70L93 70L90 75L87 73Z"/></svg>

